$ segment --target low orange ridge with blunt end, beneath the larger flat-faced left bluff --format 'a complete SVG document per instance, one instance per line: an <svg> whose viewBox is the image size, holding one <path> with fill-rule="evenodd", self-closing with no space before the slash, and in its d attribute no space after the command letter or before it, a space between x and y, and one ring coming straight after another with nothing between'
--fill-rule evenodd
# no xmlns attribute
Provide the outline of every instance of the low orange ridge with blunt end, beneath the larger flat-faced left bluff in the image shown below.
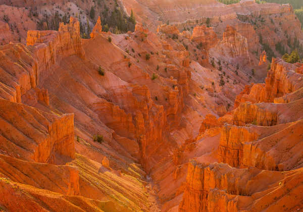
<svg viewBox="0 0 303 212"><path fill-rule="evenodd" d="M80 195L79 172L72 166L34 163L0 155L2 177L66 195Z"/></svg>

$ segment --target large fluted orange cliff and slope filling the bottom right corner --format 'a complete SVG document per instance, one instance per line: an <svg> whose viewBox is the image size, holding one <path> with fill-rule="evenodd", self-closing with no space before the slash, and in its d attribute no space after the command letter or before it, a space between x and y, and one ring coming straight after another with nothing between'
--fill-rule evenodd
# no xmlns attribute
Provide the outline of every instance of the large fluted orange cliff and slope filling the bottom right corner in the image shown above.
<svg viewBox="0 0 303 212"><path fill-rule="evenodd" d="M298 192L297 186L301 187L299 185L302 179L301 171L298 169L278 173L256 168L235 169L226 164L207 166L192 161L188 165L185 191L179 204L179 211L218 211L218 208L220 211L243 209L260 211L278 208L282 206L281 204L284 204L284 207L288 204L287 207L291 205L290 207L299 208L302 194ZM266 195L260 196L259 192ZM288 192L296 193L299 199L286 203ZM285 202L276 203L276 195Z"/></svg>

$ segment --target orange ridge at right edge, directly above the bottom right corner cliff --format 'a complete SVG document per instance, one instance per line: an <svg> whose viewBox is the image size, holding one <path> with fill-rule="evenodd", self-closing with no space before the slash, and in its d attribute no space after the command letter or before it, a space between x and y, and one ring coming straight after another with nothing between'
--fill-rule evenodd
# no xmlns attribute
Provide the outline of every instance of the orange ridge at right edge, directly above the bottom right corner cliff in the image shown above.
<svg viewBox="0 0 303 212"><path fill-rule="evenodd" d="M280 128L276 133L265 137L265 132L262 134L264 138L244 143L243 165L274 171L285 171L302 167L303 160L299 156L303 145L301 140L302 123L303 121L300 120L275 126ZM267 131L270 131L270 129Z"/></svg>

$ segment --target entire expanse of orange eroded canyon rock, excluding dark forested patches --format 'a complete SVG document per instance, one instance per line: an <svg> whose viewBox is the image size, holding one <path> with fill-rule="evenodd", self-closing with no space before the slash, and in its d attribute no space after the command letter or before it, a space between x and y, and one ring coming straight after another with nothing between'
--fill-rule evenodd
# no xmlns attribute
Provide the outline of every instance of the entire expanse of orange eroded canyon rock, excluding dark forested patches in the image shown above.
<svg viewBox="0 0 303 212"><path fill-rule="evenodd" d="M58 31L29 30L27 45L0 46L0 207L302 208L301 64L277 58L266 72L258 35L285 41L268 34L288 20L290 39L300 38L291 7L128 1L128 12L130 5L146 20L134 32L102 32L96 17L82 39L71 17ZM250 22L270 18L256 29ZM12 29L2 24L0 35Z"/></svg>

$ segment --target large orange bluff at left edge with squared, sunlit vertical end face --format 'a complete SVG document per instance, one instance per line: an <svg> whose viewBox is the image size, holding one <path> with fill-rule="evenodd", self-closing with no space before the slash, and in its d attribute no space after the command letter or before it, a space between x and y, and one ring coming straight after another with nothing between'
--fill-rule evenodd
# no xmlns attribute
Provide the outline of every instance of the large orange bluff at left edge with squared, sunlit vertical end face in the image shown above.
<svg viewBox="0 0 303 212"><path fill-rule="evenodd" d="M75 157L73 114L57 116L4 99L0 102L3 153L55 164Z"/></svg>

